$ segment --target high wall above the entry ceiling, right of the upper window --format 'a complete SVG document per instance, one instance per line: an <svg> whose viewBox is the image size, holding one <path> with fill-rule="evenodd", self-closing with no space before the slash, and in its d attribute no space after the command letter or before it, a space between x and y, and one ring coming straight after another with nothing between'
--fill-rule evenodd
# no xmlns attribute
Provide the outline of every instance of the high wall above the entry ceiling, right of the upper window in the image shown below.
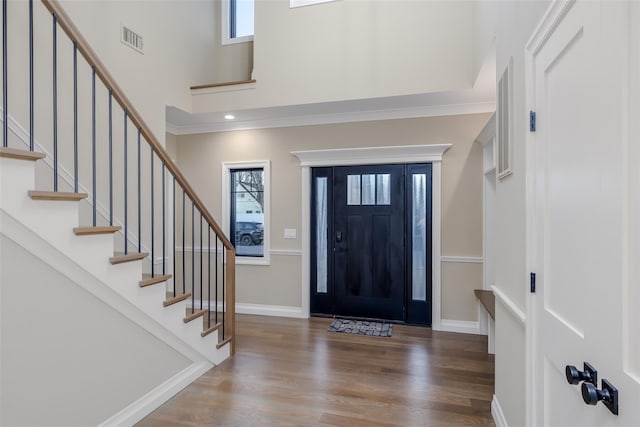
<svg viewBox="0 0 640 427"><path fill-rule="evenodd" d="M194 97L194 112L469 88L470 2L255 6L255 89Z"/></svg>

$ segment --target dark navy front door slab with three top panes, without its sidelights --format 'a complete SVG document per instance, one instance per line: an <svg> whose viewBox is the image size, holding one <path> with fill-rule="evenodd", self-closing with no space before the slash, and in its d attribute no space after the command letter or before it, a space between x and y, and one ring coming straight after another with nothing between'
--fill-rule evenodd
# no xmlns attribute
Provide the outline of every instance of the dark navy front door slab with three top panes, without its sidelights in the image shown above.
<svg viewBox="0 0 640 427"><path fill-rule="evenodd" d="M336 167L333 177L335 314L403 320L403 167Z"/></svg>

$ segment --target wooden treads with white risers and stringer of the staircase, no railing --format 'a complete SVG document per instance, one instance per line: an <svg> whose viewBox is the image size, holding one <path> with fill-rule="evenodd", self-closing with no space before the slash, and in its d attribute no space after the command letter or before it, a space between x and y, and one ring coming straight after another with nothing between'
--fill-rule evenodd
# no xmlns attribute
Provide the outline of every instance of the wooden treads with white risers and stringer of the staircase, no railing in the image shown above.
<svg viewBox="0 0 640 427"><path fill-rule="evenodd" d="M78 227L79 202L86 194L33 190L34 163L43 157L41 153L0 148L3 221L18 222L37 234L213 364L229 357L230 346L219 342L221 323L203 330L206 311L186 314L190 293L168 296L165 284L170 275L143 276L142 261L147 253L113 253L113 234L119 227Z"/></svg>

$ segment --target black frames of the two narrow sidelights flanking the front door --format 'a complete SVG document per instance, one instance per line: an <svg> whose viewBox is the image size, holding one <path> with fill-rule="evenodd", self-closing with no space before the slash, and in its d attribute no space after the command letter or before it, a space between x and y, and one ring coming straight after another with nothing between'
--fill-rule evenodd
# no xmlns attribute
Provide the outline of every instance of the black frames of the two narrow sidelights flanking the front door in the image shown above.
<svg viewBox="0 0 640 427"><path fill-rule="evenodd" d="M409 324L418 324L431 326L433 317L433 163L425 162L419 164L405 163L404 166L404 183L405 183L405 227L404 227L404 247L405 247L405 283L404 283L404 321ZM358 165L353 165L358 166ZM427 223L426 223L426 253L425 266L427 268L426 275L426 301L416 301L411 298L412 283L412 242L409 227L411 225L411 177L414 173L426 174L426 204L427 204ZM317 248L316 248L316 179L327 178L327 292L317 292ZM335 291L333 280L333 166L328 167L312 167L311 168L311 198L310 198L310 313L316 315L333 315L335 314Z"/></svg>

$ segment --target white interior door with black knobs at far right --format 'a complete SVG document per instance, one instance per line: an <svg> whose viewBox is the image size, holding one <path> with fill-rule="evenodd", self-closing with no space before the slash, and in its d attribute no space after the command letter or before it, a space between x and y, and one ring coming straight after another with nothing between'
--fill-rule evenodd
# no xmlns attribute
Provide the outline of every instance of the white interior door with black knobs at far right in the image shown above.
<svg viewBox="0 0 640 427"><path fill-rule="evenodd" d="M640 263L633 218L640 212L632 203L640 158L631 157L630 144L631 123L639 119L630 117L629 102L638 98L630 73L635 8L556 3L528 46L529 101L537 113L529 141L536 426L640 425L640 326L633 314L640 309L633 270ZM603 379L617 388L618 415L603 402L587 405L584 381L568 383L566 366L582 371L584 362L597 369L597 389Z"/></svg>

